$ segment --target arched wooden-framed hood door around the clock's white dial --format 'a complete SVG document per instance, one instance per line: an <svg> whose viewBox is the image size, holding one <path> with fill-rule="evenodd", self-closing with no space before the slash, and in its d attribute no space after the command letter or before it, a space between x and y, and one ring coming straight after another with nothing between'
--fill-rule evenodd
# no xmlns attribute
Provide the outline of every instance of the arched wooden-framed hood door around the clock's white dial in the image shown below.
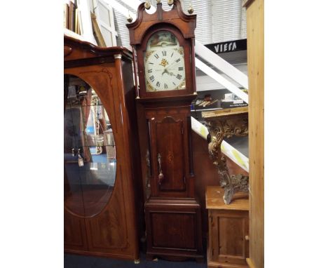
<svg viewBox="0 0 328 268"><path fill-rule="evenodd" d="M172 25L153 27L136 48L139 98L192 96L193 53L189 41Z"/></svg>

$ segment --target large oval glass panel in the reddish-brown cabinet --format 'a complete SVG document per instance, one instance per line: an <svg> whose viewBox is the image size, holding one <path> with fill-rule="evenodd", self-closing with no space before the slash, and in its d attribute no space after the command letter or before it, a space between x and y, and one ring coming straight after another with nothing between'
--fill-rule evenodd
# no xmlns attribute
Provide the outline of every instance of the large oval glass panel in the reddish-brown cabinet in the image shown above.
<svg viewBox="0 0 328 268"><path fill-rule="evenodd" d="M90 217L106 206L116 178L109 116L94 89L64 76L64 206Z"/></svg>

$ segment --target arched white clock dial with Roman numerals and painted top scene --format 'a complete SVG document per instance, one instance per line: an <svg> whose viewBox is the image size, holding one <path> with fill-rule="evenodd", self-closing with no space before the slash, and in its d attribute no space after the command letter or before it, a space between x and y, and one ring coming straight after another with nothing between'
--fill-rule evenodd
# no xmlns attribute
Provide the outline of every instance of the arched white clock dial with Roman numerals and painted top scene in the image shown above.
<svg viewBox="0 0 328 268"><path fill-rule="evenodd" d="M156 32L144 53L146 91L186 89L184 48L169 31Z"/></svg>

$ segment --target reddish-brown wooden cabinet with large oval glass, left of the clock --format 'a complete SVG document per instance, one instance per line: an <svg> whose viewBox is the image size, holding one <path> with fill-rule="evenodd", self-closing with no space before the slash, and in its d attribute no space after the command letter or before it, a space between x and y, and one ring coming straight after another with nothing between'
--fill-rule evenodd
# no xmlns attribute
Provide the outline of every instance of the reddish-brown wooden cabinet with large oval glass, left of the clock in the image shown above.
<svg viewBox="0 0 328 268"><path fill-rule="evenodd" d="M139 259L132 54L64 36L64 250Z"/></svg>

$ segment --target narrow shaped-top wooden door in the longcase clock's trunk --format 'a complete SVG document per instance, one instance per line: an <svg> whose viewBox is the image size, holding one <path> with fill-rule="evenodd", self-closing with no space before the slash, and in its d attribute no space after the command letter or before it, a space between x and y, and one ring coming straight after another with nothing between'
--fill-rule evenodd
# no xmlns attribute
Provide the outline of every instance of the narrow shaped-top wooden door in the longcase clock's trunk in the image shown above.
<svg viewBox="0 0 328 268"><path fill-rule="evenodd" d="M184 121L166 116L151 120L153 187L156 196L186 194ZM153 192L153 191L152 191Z"/></svg>

